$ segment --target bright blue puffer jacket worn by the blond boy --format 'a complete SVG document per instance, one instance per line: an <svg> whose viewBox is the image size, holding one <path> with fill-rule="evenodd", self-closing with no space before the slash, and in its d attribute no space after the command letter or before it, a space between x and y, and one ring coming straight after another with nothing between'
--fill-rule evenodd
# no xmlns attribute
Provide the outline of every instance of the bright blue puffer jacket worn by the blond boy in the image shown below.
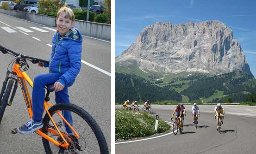
<svg viewBox="0 0 256 154"><path fill-rule="evenodd" d="M61 73L58 82L66 86L74 82L81 68L82 35L75 27L70 27L69 32L60 36L57 31L52 38L52 52L49 72Z"/></svg>

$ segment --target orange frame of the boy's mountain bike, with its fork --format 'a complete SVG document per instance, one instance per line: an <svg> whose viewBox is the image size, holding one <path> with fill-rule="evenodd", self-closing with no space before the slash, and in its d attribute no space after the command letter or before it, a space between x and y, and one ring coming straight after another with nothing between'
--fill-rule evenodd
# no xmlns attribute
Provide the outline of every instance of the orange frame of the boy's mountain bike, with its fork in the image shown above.
<svg viewBox="0 0 256 154"><path fill-rule="evenodd" d="M11 77L9 77L9 75L11 74ZM32 100L31 97L29 95L29 91L26 85L26 82L31 86L31 88L33 88L33 82L31 81L30 77L26 74L26 72L23 70L22 66L19 65L19 63L15 62L12 71L7 71L6 72L6 78L3 84L3 88L1 90L1 94L0 97L2 97L5 89L6 89L6 83L8 82L8 80L10 78L13 78L15 80L15 85L12 91L12 95L10 98L10 102L8 103L9 106L11 106L12 104L12 100L13 97L15 95L16 89L18 87L18 81L25 99L25 103L28 109L28 113L30 118L32 118L33 116L33 112L32 112ZM57 142L54 139L52 139L50 136L46 135L45 133L42 132L42 129L36 130L36 132L38 133L38 135L42 136L43 138L49 140L50 142L52 142L53 144L55 144L58 147L63 147L63 148L69 148L69 143L67 142L67 140L65 139L65 137L67 137L70 141L72 141L70 139L70 137L68 135L66 135L65 133L62 133L57 125L56 122L53 120L53 118L51 117L49 111L48 111L48 107L52 107L52 105L48 102L48 101L44 101L44 109L46 111L46 114L49 115L52 123L54 124L56 130L52 129L52 128L48 128L48 131L55 134L55 135L60 135L64 141L64 143L62 144L61 142ZM57 113L60 118L62 118L62 120L69 126L69 128L74 132L75 137L78 138L78 134L76 133L76 131L74 130L74 128L68 123L68 121L58 112ZM65 136L65 137L64 137Z"/></svg>

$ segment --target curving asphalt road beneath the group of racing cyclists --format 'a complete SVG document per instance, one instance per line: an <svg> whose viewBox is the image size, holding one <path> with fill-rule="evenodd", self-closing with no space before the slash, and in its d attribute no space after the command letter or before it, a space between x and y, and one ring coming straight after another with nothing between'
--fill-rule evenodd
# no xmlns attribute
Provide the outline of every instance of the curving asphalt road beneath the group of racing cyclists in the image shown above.
<svg viewBox="0 0 256 154"><path fill-rule="evenodd" d="M159 118L170 121L170 107L152 107ZM185 106L186 107L186 106ZM119 108L119 107L118 107ZM216 130L214 106L200 106L199 128L192 123L191 106L186 107L187 116L183 133L170 134L155 139L115 145L115 154L255 154L256 114L237 116L239 112L255 113L256 107L225 106L226 115L222 132ZM239 112L237 112L239 109ZM154 114L154 115L155 115ZM245 117L246 116L246 117Z"/></svg>

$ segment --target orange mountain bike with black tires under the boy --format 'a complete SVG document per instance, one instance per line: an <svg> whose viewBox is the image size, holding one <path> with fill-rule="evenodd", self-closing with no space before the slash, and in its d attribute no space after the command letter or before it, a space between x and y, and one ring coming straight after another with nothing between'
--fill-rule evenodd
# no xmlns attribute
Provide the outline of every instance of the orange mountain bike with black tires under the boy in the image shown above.
<svg viewBox="0 0 256 154"><path fill-rule="evenodd" d="M0 46L2 53L9 53L15 57L11 65L12 71L7 67L6 78L0 93L0 123L6 107L12 105L18 83L24 95L25 103L30 118L33 116L32 100L29 95L26 82L33 88L33 82L26 74L29 65L26 60L36 64L49 61L25 56L15 53L5 47ZM49 103L50 92L54 91L53 85L46 86L47 93L44 101L44 127L36 133L42 136L44 150L46 154L108 154L105 137L94 118L81 107L75 104L59 103L51 105ZM12 94L11 94L12 92ZM11 97L9 98L9 96ZM64 112L65 111L65 112ZM73 122L64 118L64 113L70 112ZM67 133L66 128L70 128L72 133ZM17 128L11 131L12 134L18 132Z"/></svg>

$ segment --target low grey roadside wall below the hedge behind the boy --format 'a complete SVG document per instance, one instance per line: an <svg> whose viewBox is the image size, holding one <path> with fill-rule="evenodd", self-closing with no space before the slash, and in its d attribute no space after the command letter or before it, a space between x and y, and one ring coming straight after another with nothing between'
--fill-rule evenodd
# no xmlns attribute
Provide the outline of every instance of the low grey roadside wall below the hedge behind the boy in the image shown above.
<svg viewBox="0 0 256 154"><path fill-rule="evenodd" d="M34 14L29 12L20 12L15 10L0 9L1 13L8 14L13 17L32 21L46 26L56 26L56 18L42 14ZM111 25L88 22L83 20L75 20L74 26L81 31L81 34L86 36L98 37L105 40L111 40Z"/></svg>

